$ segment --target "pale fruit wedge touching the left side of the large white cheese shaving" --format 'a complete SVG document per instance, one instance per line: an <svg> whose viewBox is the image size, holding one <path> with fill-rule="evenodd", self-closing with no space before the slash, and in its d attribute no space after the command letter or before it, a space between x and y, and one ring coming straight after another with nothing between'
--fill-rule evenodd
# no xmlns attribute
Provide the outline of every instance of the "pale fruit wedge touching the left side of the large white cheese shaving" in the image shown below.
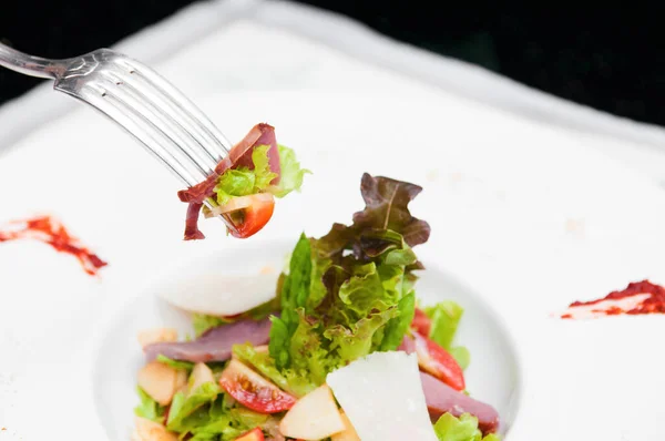
<svg viewBox="0 0 665 441"><path fill-rule="evenodd" d="M300 398L279 423L283 435L299 440L321 440L346 427L327 384Z"/></svg>

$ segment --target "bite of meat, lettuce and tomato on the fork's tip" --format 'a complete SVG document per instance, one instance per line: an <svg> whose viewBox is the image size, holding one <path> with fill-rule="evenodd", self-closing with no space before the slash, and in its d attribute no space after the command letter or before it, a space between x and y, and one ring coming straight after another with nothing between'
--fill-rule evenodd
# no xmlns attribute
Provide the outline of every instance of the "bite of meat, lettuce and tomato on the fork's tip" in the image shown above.
<svg viewBox="0 0 665 441"><path fill-rule="evenodd" d="M277 144L275 127L256 124L204 182L177 193L188 204L185 240L205 238L198 229L202 209L205 217L224 216L234 237L254 235L270 221L275 197L299 189L307 173L293 150Z"/></svg>

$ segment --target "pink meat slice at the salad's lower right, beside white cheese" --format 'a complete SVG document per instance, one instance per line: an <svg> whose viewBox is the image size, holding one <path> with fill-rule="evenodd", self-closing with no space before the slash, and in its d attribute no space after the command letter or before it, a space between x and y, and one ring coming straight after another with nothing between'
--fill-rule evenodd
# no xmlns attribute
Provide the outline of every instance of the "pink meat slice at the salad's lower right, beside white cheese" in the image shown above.
<svg viewBox="0 0 665 441"><path fill-rule="evenodd" d="M454 417L471 413L478 418L478 427L483 434L493 433L499 429L499 413L490 404L458 392L429 373L420 372L420 381L432 421L447 412Z"/></svg>

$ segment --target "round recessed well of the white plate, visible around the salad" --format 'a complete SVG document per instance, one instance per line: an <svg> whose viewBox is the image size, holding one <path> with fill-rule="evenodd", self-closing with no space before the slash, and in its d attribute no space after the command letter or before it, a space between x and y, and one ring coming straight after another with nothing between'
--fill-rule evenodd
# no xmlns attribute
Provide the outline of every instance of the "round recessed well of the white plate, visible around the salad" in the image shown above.
<svg viewBox="0 0 665 441"><path fill-rule="evenodd" d="M95 342L91 382L98 416L111 440L126 440L132 429L133 408L137 404L135 375L144 363L136 334L163 326L177 328L181 336L192 332L187 315L166 304L160 290L174 283L195 280L213 268L248 277L257 275L266 265L282 268L293 246L293 243L264 243L216 252L180 265L114 316ZM424 304L453 299L464 307L456 342L471 351L471 365L466 372L468 390L474 398L494 406L502 417L503 429L510 428L521 390L512 339L497 314L479 296L437 269L434 263L426 261L426 265L428 269L421 271L417 284L419 297Z"/></svg>

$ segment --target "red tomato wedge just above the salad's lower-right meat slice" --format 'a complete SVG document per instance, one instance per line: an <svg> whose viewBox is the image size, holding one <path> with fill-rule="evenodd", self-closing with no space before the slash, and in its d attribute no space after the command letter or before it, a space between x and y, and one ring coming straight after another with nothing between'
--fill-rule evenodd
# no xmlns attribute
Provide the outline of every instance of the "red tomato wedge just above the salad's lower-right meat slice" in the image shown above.
<svg viewBox="0 0 665 441"><path fill-rule="evenodd" d="M464 390L464 373L457 360L434 341L413 332L420 369L456 390Z"/></svg>

